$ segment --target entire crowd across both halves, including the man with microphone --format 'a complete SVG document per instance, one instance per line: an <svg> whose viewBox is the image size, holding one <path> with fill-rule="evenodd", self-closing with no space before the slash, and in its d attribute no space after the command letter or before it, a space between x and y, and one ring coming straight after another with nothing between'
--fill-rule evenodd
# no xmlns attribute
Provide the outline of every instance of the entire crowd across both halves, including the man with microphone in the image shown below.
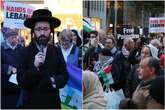
<svg viewBox="0 0 165 110"><path fill-rule="evenodd" d="M2 108L61 108L59 89L70 80L68 64L83 70L84 109L106 109L108 100L115 100L106 97L107 89L123 91L121 109L165 108L164 34L118 39L104 30L64 29L54 43L60 24L49 10L34 11L24 22L31 30L28 46L17 29L2 25Z"/></svg>

